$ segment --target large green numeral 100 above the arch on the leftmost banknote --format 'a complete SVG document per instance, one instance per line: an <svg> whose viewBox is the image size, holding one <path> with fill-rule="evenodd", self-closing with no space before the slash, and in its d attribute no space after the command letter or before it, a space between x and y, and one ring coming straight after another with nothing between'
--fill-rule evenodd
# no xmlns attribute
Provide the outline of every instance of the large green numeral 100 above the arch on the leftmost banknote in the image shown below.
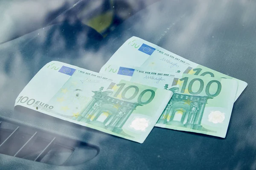
<svg viewBox="0 0 256 170"><path fill-rule="evenodd" d="M125 87L125 83L117 84L116 86L120 86L120 87L119 87L119 89L116 91L116 93L114 94L114 97L117 97L117 96L120 94L120 92L122 91L122 89ZM127 93L127 91L130 90L130 89L133 89L133 88L135 89L134 94L133 94L131 97L128 97L128 98L125 97L125 94ZM142 98L143 98L143 96L144 96L144 94L145 94L146 92L150 92L150 93L151 93L151 96L149 97L149 99L148 99L147 101L142 102ZM136 85L130 85L130 86L128 86L127 88L125 88L125 89L122 91L121 97L122 97L122 99L124 99L124 100L132 100L132 99L134 99L138 94L139 94L139 88L138 88ZM146 90L142 91L142 92L140 93L140 95L138 96L138 103L140 103L141 105L146 105L146 104L150 103L150 102L154 99L154 96L155 96L155 92L154 92L153 90L151 90L151 89L146 89Z"/></svg>

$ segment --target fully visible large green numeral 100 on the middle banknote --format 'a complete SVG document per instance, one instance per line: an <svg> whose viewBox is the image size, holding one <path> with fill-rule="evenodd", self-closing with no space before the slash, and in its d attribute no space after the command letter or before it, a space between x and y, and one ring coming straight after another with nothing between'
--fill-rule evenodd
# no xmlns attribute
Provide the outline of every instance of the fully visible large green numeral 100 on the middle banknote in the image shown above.
<svg viewBox="0 0 256 170"><path fill-rule="evenodd" d="M184 92L185 92L186 85L187 85L187 83L188 83L188 79L189 79L188 77L184 77L184 78L180 79L180 81L184 81L180 93L184 93ZM200 87L199 87L198 91L196 91L196 92L195 92L195 91L192 91L192 86L193 86L193 84L194 84L195 81L198 81L198 82L200 83ZM210 92L209 92L212 83L217 83L217 85L218 85L218 88L217 88L215 94L210 94ZM203 81L202 79L196 78L196 79L192 79L192 80L189 82L188 91L189 91L190 94L193 94L193 95L200 94L200 93L203 91L203 89L204 89L204 81ZM209 82L207 83L207 85L206 85L205 93L206 93L207 96L209 96L209 97L218 96L218 95L221 93L221 82L219 82L218 80L211 80L211 81L209 81Z"/></svg>

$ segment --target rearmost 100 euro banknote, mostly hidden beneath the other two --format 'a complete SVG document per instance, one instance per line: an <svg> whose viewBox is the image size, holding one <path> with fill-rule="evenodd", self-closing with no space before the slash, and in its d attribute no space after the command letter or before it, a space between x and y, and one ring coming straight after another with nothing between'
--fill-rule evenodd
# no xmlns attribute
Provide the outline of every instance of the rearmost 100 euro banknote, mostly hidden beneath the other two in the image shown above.
<svg viewBox="0 0 256 170"><path fill-rule="evenodd" d="M100 73L117 72L113 65L129 68L134 65L150 70L161 70L176 73L199 75L204 77L218 77L235 79L218 71L191 62L188 59L178 56L164 48L154 45L138 37L128 39L102 67ZM111 68L113 68L111 70ZM236 92L236 99L241 95L247 83L239 79Z"/></svg>

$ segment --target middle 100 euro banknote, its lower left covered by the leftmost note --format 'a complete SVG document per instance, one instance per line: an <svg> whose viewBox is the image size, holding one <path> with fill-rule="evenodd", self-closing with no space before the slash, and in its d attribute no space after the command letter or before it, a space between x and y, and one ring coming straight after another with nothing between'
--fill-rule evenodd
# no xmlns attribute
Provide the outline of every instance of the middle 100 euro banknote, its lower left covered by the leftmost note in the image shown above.
<svg viewBox="0 0 256 170"><path fill-rule="evenodd" d="M160 116L157 127L225 138L236 98L236 80L138 67L116 69L119 73L116 76L119 78L174 93ZM113 72L112 74L115 75Z"/></svg>

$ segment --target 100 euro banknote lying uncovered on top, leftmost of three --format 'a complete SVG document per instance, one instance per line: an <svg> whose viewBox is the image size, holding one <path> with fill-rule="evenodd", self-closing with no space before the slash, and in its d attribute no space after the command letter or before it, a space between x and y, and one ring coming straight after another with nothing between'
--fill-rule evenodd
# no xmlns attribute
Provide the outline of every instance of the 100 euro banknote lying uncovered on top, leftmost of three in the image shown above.
<svg viewBox="0 0 256 170"><path fill-rule="evenodd" d="M26 85L15 106L143 143L172 94L52 61Z"/></svg>

